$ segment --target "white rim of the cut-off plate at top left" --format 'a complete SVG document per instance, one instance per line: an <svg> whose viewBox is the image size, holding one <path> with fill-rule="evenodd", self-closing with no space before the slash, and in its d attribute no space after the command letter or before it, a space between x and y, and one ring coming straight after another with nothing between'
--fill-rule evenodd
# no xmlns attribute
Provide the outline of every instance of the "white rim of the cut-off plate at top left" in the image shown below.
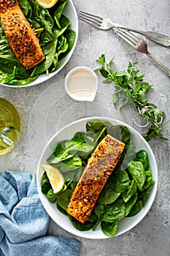
<svg viewBox="0 0 170 256"><path fill-rule="evenodd" d="M72 49L70 50L70 52L63 58L63 59L66 59L66 61L63 61L63 64L61 64L62 60L58 62L58 68L53 72L53 73L50 73L49 75L46 75L46 74L41 74L39 75L39 77L34 80L33 82L31 83L28 83L26 85L23 85L23 86L17 86L17 85L9 85L9 84L5 84L5 83L0 83L0 86L5 86L5 87L12 87L12 88L23 88L23 87L29 87L29 86L36 86L36 85L39 85L40 83L44 83L45 81L49 80L50 78L53 78L54 75L58 74L58 72L61 71L61 69L63 69L63 67L67 64L67 62L69 61L69 59L71 58L72 54L74 53L74 49L77 45L77 39L78 39L78 32L79 32L79 23L78 23L78 17L77 17L77 11L74 7L74 4L73 4L73 1L72 0L69 0L66 4L66 7L65 9L63 10L63 14L66 14L66 10L69 9L69 8L72 8L73 12L74 12L74 19L76 20L76 23L75 24L71 24L71 26L69 27L70 29L74 29L74 31L76 32L76 38L75 38L75 41L74 41L74 45L72 47ZM68 18L69 15L66 15ZM73 27L74 26L74 27Z"/></svg>

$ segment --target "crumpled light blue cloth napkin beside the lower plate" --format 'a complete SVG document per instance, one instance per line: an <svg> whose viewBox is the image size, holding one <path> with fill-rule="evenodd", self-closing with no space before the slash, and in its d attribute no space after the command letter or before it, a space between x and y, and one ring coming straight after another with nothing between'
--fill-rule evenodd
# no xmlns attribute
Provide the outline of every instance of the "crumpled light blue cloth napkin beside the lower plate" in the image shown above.
<svg viewBox="0 0 170 256"><path fill-rule="evenodd" d="M31 173L0 175L0 256L76 256L80 241L46 236L49 217Z"/></svg>

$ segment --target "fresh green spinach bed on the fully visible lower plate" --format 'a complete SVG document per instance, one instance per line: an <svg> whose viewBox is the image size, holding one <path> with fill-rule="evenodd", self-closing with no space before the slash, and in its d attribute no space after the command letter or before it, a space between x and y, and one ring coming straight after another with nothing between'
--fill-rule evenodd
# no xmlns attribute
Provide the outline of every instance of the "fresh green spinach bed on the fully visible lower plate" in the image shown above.
<svg viewBox="0 0 170 256"><path fill-rule="evenodd" d="M107 134L125 143L125 149L102 189L90 218L82 224L67 214L66 207L90 154ZM77 132L71 140L58 143L47 162L61 170L65 184L61 192L54 194L46 173L43 173L42 193L51 203L57 200L58 210L69 217L77 230L95 230L101 223L101 230L109 237L115 236L120 219L132 217L141 211L154 184L147 152L135 151L134 137L127 127L113 126L108 121L88 122L86 132Z"/></svg>

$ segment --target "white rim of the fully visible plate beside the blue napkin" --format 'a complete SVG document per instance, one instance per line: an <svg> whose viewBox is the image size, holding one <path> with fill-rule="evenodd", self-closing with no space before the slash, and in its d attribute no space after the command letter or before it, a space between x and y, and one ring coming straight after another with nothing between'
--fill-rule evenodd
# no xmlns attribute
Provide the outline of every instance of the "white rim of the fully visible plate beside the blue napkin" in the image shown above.
<svg viewBox="0 0 170 256"><path fill-rule="evenodd" d="M142 137L142 135L139 134L139 132L136 131L136 129L134 129L133 127L130 127L128 124L125 124L123 121L119 121L117 119L114 119L114 118L108 118L108 117L101 117L101 116L90 116L90 117L86 117L86 118L81 118L81 119L78 119L76 121L72 121L70 124L67 124L65 127L61 128L58 132L55 133L55 135L53 135L53 137L49 140L49 142L47 143L47 145L45 146L44 150L42 151L42 155L39 159L39 162L38 162L38 166L37 166L37 170L36 170L36 182L37 182L37 189L38 189L38 192L39 192L39 197L42 201L42 205L45 207L45 210L47 211L47 214L49 214L49 216L51 217L51 219L53 219L53 221L58 224L60 227L62 227L64 230L68 231L69 233L72 233L73 235L75 236L80 236L82 238L90 238L90 239L104 239L104 238L109 238L108 236L105 236L104 233L102 233L101 231L101 228L100 226L98 225L97 229L95 231L92 231L92 230L89 230L89 231L79 231L77 229L75 229L72 225L72 223L70 222L71 226L68 227L66 225L66 220L69 219L68 217L66 217L65 215L61 215L63 217L63 222L58 222L58 219L55 218L55 216L52 214L52 212L50 210L52 210L52 208L47 208L47 206L54 206L55 203L50 203L48 200L47 200L47 197L45 197L45 195L42 194L41 192L41 184L40 184L40 180L41 180L41 176L42 174L40 174L41 172L41 164L42 162L45 162L45 161L42 161L43 159L43 156L45 154L45 151L47 151L47 148L49 148L50 144L53 142L53 140L55 140L55 138L60 135L64 129L68 129L69 127L72 127L72 126L75 126L77 124L86 124L88 121L92 121L92 120L95 120L95 119L98 119L98 120L101 120L101 121L110 121L112 124L120 124L120 125L123 125L125 127L127 127L128 129L130 129L130 131L137 135L138 138L140 138L140 141L142 143L144 143L144 145L146 145L146 148L144 149L147 149L147 153L149 155L149 158L152 157L152 163L150 163L150 165L153 165L155 167L155 170L153 172L152 170L152 178L155 179L155 183L153 184L153 187L151 189L151 192L150 192L150 195L148 197L148 200L144 206L144 208L142 208L142 210L139 212L139 214L136 214L136 216L134 217L125 217L123 219L121 219L119 222L118 222L118 227L117 227L117 234L115 235L116 236L120 236L121 234L123 233L126 233L127 231L131 230L133 227L135 227L136 225L139 224L139 222L142 221L142 219L144 219L144 217L147 215L148 211L150 211L150 208L152 206L152 203L154 202L155 200L155 195L156 195L156 192L157 192L157 189L158 189L158 167L157 167L157 163L156 163L156 160L155 160L155 156L154 154L152 153L152 149L150 148L149 144L147 143L146 140L144 140L144 138ZM77 132L78 130L75 130L75 132ZM80 130L79 130L80 131ZM83 131L83 130L82 130ZM56 145L56 143L55 143ZM139 148L139 149L142 149L142 148ZM137 149L138 151L138 149ZM47 158L46 158L47 159ZM149 199L150 199L150 202L149 202ZM58 211L57 208L55 208L55 211ZM59 211L58 211L59 214L61 214ZM132 222L130 223L130 225L128 225L127 227L124 228L124 230L119 230L119 226L120 226L120 223L121 225L125 225L125 220L126 219L130 219Z"/></svg>

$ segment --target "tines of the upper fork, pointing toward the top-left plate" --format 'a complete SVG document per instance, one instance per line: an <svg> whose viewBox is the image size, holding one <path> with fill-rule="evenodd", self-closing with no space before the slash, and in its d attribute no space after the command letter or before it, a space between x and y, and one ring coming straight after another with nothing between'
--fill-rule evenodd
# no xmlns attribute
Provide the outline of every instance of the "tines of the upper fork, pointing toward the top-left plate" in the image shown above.
<svg viewBox="0 0 170 256"><path fill-rule="evenodd" d="M101 26L102 23L102 18L97 16L97 15L92 15L88 12L79 12L78 13L78 18L80 18L80 20L85 21L86 23L95 26L96 28L98 28L99 26Z"/></svg>

